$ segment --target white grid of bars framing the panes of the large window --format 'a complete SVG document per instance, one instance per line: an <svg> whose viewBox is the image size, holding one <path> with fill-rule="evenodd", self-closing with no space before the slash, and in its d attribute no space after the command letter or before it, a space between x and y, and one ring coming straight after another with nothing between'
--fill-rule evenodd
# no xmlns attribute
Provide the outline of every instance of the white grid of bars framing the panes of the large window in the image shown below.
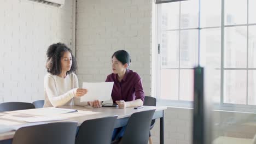
<svg viewBox="0 0 256 144"><path fill-rule="evenodd" d="M164 103L166 105L171 104L174 106L185 106L185 107L191 107L193 104L193 101L187 101L187 100L180 100L180 74L181 74L181 70L187 70L187 69L193 69L193 68L182 68L181 67L181 31L187 31L187 30L194 30L197 29L198 30L198 62L200 64L200 31L202 29L214 29L214 28L220 28L221 31L221 38L220 38L220 104L214 104L214 108L215 109L230 109L232 108L232 110L234 110L234 107L238 107L238 108L242 108L242 109L256 109L256 105L248 105L248 70L256 70L256 68L248 68L248 63L249 63L249 58L248 58L248 49L249 49L249 44L248 44L248 40L249 40L249 26L256 26L256 23L249 23L249 0L247 0L247 23L246 24L238 24L238 25L225 25L225 0L221 0L221 25L220 26L211 26L211 27L200 27L200 20L201 20L201 0L197 0L198 4L199 4L199 27L193 27L193 28L181 28L181 3L179 2L179 29L165 29L162 30L161 28L161 18L159 19L159 17L161 17L161 4L159 4L158 7L158 32L157 32L157 37L158 37L158 44L161 45L161 34L162 32L171 32L171 31L179 31L179 62L178 62L178 68L163 68L163 69L172 69L172 70L178 70L178 100L166 100L166 99L160 99L160 96L157 97L158 101L160 103ZM160 20L160 21L159 21ZM240 27L240 26L246 26L247 27L247 64L246 64L246 68L224 68L224 37L225 37L225 33L224 33L224 29L226 27ZM160 55L157 54L158 59L159 59L159 72L162 69L162 65L161 65L161 49L160 49ZM219 69L219 68L216 68ZM224 71L225 70L246 70L247 76L246 76L246 104L231 104L231 103L224 103ZM160 78L160 76L159 76ZM158 79L158 86L161 87L160 82L161 80ZM158 88L157 90L157 95L160 95L160 88Z"/></svg>

